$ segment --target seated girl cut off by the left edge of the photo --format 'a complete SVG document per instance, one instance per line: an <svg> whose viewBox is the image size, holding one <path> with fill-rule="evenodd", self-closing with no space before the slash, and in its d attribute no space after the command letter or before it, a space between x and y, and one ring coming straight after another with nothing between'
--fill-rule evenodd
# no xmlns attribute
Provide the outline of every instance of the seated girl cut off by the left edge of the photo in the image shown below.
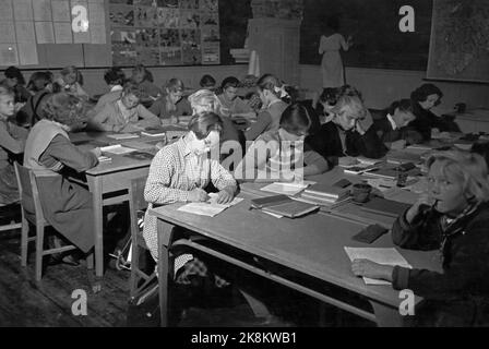
<svg viewBox="0 0 489 349"><path fill-rule="evenodd" d="M19 202L19 188L12 165L14 156L24 153L27 131L10 122L15 113L14 92L0 85L0 205ZM22 158L21 158L22 159Z"/></svg>

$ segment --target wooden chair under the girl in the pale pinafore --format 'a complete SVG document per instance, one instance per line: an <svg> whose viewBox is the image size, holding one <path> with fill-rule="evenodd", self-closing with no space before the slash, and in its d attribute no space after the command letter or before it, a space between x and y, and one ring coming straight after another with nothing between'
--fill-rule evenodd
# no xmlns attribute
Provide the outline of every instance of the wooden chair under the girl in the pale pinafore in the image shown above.
<svg viewBox="0 0 489 349"><path fill-rule="evenodd" d="M50 227L43 214L40 205L39 191L37 190L36 174L17 163L15 166L15 176L19 183L19 192L21 194L22 205L22 237L21 237L21 265L27 266L27 249L29 241L36 241L36 261L35 261L35 278L40 281L43 277L43 257L53 253L63 253L75 250L74 245L55 248L44 250L45 228ZM34 213L26 209L34 206ZM36 234L28 237L29 224L36 227Z"/></svg>

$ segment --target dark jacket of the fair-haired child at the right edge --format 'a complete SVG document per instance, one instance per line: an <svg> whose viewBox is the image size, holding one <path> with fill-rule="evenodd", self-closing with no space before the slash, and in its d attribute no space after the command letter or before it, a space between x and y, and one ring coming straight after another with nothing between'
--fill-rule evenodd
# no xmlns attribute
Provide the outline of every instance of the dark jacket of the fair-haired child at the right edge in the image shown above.
<svg viewBox="0 0 489 349"><path fill-rule="evenodd" d="M444 231L442 215L427 210L409 225L405 215L392 228L403 249L438 250L443 274L396 266L393 287L425 298L418 324L428 326L489 325L489 204L456 220ZM445 243L442 248L443 237Z"/></svg>

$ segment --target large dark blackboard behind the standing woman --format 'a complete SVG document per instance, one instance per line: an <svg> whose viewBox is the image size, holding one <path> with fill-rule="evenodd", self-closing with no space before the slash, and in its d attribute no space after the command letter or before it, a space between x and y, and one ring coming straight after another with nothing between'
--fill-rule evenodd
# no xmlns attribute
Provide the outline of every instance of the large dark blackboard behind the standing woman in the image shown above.
<svg viewBox="0 0 489 349"><path fill-rule="evenodd" d="M415 32L402 33L399 9L415 10ZM346 67L426 71L432 0L305 0L300 62L320 64L319 44L330 15L339 19L339 33L351 35L354 47L342 51Z"/></svg>

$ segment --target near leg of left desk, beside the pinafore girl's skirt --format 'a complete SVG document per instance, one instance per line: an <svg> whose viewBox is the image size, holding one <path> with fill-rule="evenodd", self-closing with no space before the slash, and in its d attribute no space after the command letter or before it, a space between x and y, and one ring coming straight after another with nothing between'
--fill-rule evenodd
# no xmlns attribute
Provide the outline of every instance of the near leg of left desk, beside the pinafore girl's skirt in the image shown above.
<svg viewBox="0 0 489 349"><path fill-rule="evenodd" d="M94 234L95 234L95 275L104 276L104 213L102 177L88 177L94 206Z"/></svg>

